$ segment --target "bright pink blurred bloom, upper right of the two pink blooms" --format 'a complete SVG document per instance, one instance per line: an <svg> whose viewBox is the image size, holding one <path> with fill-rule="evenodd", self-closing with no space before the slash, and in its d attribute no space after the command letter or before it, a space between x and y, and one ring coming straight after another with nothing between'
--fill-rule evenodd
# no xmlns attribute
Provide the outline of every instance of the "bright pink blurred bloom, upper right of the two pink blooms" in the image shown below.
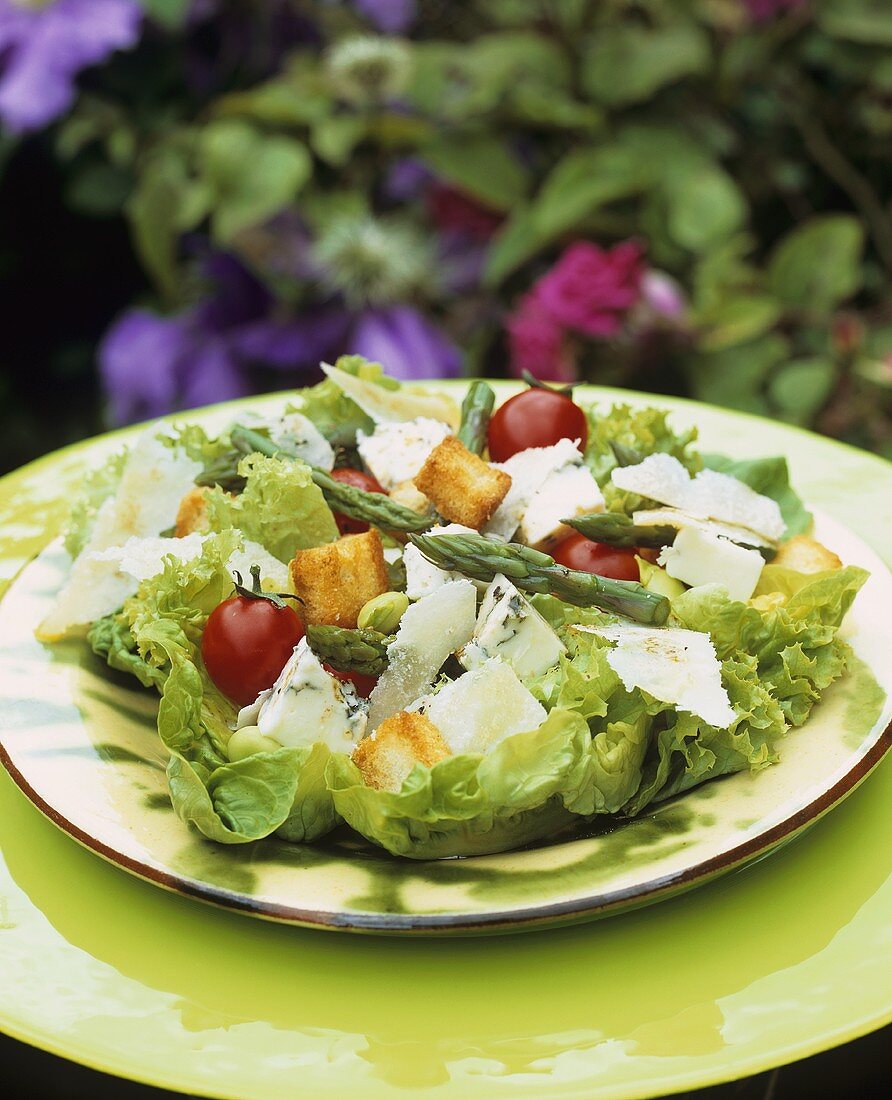
<svg viewBox="0 0 892 1100"><path fill-rule="evenodd" d="M642 251L637 241L607 250L577 241L539 279L532 294L541 309L564 328L592 337L615 336L641 294Z"/></svg>

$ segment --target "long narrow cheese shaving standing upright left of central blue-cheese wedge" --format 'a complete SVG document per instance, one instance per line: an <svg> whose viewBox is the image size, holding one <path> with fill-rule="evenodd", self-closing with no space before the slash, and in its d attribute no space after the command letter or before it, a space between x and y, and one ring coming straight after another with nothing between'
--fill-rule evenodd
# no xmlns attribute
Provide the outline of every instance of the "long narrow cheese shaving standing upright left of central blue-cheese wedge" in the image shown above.
<svg viewBox="0 0 892 1100"><path fill-rule="evenodd" d="M372 729L430 691L445 659L471 640L476 612L476 588L465 580L450 581L409 606L370 697Z"/></svg>

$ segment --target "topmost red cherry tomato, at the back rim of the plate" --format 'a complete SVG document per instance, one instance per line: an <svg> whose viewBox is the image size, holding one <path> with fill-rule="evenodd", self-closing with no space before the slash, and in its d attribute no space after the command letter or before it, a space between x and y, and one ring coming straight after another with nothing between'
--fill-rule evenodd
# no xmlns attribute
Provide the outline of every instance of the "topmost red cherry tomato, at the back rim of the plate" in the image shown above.
<svg viewBox="0 0 892 1100"><path fill-rule="evenodd" d="M536 386L497 408L487 431L493 462L505 462L528 447L551 447L561 439L579 439L580 450L585 450L585 414L566 394Z"/></svg>

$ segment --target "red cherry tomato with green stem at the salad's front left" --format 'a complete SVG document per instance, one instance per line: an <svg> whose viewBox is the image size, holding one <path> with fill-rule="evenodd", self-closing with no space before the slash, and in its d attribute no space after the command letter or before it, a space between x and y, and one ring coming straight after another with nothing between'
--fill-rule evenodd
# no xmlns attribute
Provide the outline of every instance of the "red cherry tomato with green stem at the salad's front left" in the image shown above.
<svg viewBox="0 0 892 1100"><path fill-rule="evenodd" d="M293 607L262 596L231 596L208 617L201 657L220 691L247 706L273 686L305 634Z"/></svg>

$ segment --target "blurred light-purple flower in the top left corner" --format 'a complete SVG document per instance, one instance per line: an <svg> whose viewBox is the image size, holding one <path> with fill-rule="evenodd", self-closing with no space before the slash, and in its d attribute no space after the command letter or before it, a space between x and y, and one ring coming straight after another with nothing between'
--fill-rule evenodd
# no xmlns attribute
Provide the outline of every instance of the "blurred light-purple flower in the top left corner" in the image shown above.
<svg viewBox="0 0 892 1100"><path fill-rule="evenodd" d="M136 0L0 0L0 123L25 133L58 118L78 73L135 45L141 23Z"/></svg>

